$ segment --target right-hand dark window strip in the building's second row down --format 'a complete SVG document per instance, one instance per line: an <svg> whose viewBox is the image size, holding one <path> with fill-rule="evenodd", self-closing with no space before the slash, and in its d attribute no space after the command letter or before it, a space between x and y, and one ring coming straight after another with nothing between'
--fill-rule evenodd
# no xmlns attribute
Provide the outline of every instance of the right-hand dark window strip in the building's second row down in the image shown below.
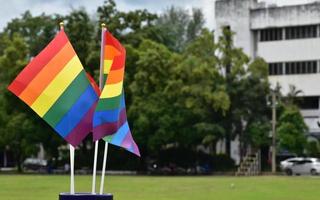
<svg viewBox="0 0 320 200"><path fill-rule="evenodd" d="M317 73L317 61L286 62L285 74Z"/></svg>

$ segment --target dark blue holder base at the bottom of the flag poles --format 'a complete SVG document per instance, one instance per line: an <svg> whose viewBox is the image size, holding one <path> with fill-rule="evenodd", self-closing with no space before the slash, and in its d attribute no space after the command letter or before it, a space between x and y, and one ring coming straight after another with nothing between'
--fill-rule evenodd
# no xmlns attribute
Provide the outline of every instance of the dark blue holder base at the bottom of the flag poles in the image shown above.
<svg viewBox="0 0 320 200"><path fill-rule="evenodd" d="M91 193L60 193L59 200L113 200L113 195Z"/></svg>

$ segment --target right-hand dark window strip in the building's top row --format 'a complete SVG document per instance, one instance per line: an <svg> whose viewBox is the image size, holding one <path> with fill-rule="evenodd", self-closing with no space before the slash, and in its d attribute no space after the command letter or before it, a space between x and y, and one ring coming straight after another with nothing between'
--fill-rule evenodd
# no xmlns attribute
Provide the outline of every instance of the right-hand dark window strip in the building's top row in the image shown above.
<svg viewBox="0 0 320 200"><path fill-rule="evenodd" d="M317 37L316 25L286 27L286 40L315 37Z"/></svg>

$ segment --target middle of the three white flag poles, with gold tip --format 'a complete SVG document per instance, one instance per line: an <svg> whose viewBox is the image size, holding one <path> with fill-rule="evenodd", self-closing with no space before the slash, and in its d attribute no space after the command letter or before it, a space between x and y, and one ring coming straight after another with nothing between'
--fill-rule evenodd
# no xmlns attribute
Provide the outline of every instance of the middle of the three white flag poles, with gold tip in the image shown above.
<svg viewBox="0 0 320 200"><path fill-rule="evenodd" d="M104 70L104 34L106 25L101 24L101 49L100 49L100 74L99 74L99 89L103 89L103 70ZM92 175L92 194L96 193L96 177L97 177L97 159L98 159L99 140L94 143L94 159L93 159L93 175Z"/></svg>

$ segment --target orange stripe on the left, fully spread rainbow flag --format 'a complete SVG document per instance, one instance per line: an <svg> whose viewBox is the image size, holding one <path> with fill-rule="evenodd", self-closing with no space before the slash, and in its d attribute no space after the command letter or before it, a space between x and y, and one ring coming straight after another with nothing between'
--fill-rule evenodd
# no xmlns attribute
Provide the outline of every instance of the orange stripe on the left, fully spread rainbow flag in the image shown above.
<svg viewBox="0 0 320 200"><path fill-rule="evenodd" d="M19 97L29 106L38 98L43 90L50 84L56 75L65 67L65 65L74 57L74 52L70 42L48 62L48 64L37 74L29 83L26 89Z"/></svg>

